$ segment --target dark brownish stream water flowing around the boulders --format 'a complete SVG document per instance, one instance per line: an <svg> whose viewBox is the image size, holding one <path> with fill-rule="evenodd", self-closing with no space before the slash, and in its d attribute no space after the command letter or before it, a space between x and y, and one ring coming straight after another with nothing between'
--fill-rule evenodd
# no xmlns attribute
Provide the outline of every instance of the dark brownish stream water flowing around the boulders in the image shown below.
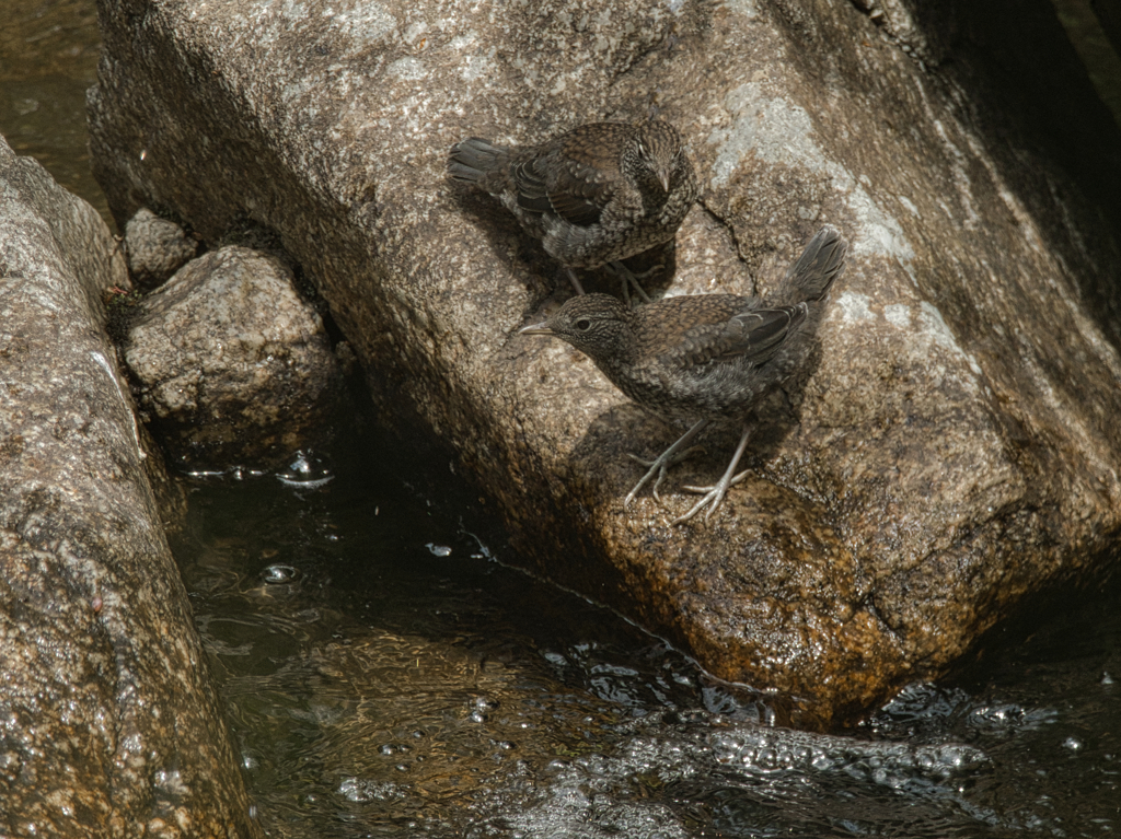
<svg viewBox="0 0 1121 839"><path fill-rule="evenodd" d="M0 0L0 132L103 208L84 158L92 3ZM1119 585L1041 600L952 681L808 735L503 566L501 533L442 494L429 504L374 435L331 454L326 473L313 457L297 474L322 485L184 478L176 553L272 836L1121 828Z"/></svg>

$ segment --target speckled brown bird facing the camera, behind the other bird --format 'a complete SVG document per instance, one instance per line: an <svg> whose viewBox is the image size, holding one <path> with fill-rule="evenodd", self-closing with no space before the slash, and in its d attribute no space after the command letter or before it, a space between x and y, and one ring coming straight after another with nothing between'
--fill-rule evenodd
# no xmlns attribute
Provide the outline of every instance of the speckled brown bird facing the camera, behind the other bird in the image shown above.
<svg viewBox="0 0 1121 839"><path fill-rule="evenodd" d="M471 137L452 147L447 171L498 198L559 261L577 295L575 268L609 265L649 302L621 260L674 239L697 199L696 173L668 122L591 122L536 146Z"/></svg>

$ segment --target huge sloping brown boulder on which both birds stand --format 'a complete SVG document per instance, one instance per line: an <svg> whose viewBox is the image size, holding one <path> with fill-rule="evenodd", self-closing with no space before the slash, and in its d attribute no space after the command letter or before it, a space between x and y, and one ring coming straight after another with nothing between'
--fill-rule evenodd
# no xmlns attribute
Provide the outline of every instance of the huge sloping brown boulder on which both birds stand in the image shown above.
<svg viewBox="0 0 1121 839"><path fill-rule="evenodd" d="M1029 7L1015 15L1057 26ZM999 78L925 64L905 7L879 12L878 27L841 0L102 0L93 148L120 217L149 204L209 240L247 215L277 231L385 421L447 440L498 501L509 559L825 725L1100 560L1121 512L1112 211L1007 99L978 99ZM1048 73L1083 96L1068 58L1048 55ZM678 429L569 347L513 336L563 279L443 173L469 136L532 142L652 110L702 181L674 292L766 291L768 265L825 222L853 242L816 371L710 526L667 526L691 503L671 487L669 510L643 496L623 512L638 476L623 453ZM1083 110L1100 141L1080 151L1091 197L1115 196L1121 141L1099 111ZM731 442L673 485L710 483Z"/></svg>

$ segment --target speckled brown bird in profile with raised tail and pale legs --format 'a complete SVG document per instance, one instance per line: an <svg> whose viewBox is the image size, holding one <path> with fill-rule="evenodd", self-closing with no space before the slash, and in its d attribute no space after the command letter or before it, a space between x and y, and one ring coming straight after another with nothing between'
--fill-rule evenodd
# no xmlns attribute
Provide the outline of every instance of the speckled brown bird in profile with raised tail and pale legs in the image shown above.
<svg viewBox="0 0 1121 839"><path fill-rule="evenodd" d="M686 447L710 423L742 422L732 459L712 486L686 486L703 497L680 524L707 506L705 522L716 512L729 487L747 472L735 473L748 446L754 407L772 389L802 371L817 343L830 288L844 269L847 242L826 225L810 240L786 272L775 293L763 300L741 295L682 295L630 308L610 295L567 300L522 335L552 335L592 358L628 398L670 421L692 425L654 460L630 457L649 470L634 485L623 509L657 475L688 456Z"/></svg>

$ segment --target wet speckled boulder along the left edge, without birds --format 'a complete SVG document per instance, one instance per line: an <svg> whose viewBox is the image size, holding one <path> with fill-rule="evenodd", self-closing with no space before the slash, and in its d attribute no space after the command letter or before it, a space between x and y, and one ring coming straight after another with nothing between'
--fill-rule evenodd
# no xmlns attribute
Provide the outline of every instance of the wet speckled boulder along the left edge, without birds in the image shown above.
<svg viewBox="0 0 1121 839"><path fill-rule="evenodd" d="M103 332L124 270L0 141L0 835L257 836Z"/></svg>

